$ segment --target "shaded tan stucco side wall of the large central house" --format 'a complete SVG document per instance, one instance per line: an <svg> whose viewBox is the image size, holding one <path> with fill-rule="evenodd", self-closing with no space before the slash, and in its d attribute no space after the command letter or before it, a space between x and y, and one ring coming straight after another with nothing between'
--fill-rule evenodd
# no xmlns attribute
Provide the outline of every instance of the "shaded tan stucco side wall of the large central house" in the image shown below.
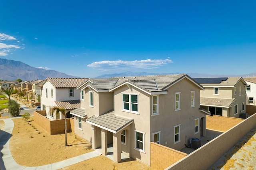
<svg viewBox="0 0 256 170"><path fill-rule="evenodd" d="M190 91L195 91L195 107L190 107ZM175 111L176 92L180 92L180 111ZM182 79L168 89L167 95L159 95L159 106L160 115L151 116L150 133L162 130L160 144L180 150L185 147L184 144L188 145L189 138L200 138L200 130L199 133L194 134L195 119L203 118L206 114L198 110L200 107L198 86L188 79ZM179 124L180 142L174 144L174 126ZM152 135L150 135L150 141L152 141Z"/></svg>

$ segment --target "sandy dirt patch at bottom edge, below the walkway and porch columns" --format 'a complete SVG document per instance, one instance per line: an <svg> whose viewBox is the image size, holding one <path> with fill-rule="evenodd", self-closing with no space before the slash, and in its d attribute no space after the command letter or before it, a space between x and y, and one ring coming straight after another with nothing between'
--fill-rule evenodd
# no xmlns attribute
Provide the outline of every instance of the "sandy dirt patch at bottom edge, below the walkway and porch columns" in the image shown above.
<svg viewBox="0 0 256 170"><path fill-rule="evenodd" d="M146 164L131 158L125 162L115 163L106 156L97 156L77 164L62 168L61 170L152 170Z"/></svg>

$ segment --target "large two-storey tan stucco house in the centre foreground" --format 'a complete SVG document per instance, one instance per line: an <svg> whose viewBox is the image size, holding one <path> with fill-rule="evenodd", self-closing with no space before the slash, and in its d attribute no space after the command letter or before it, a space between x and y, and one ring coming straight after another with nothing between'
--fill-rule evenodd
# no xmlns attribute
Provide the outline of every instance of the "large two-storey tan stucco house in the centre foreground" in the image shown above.
<svg viewBox="0 0 256 170"><path fill-rule="evenodd" d="M150 142L181 150L189 138L206 135L204 88L186 74L88 79L77 89L75 133L104 155L113 143L116 162L122 152L150 165Z"/></svg>

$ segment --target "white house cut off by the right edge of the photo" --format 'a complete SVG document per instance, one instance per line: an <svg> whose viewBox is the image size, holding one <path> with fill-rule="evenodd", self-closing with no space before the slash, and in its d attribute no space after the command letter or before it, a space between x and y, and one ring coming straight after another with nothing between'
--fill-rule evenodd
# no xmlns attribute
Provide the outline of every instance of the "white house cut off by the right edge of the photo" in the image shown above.
<svg viewBox="0 0 256 170"><path fill-rule="evenodd" d="M256 113L256 77L244 78L246 86L246 112Z"/></svg>

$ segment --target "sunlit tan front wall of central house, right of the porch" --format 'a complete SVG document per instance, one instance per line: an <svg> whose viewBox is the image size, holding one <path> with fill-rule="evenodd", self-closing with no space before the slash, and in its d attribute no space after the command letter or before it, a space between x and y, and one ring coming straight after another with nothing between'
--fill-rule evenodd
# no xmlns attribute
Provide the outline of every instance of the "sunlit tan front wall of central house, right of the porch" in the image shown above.
<svg viewBox="0 0 256 170"><path fill-rule="evenodd" d="M122 93L130 93L130 94L139 94L138 96L138 110L139 114L129 113L122 111ZM129 117L134 120L134 123L130 125L130 138L127 141L126 152L130 150L130 157L137 159L145 164L150 165L150 95L145 92L137 89L136 87L130 86L130 89L127 85L123 85L122 87L116 89L114 91L114 103L115 103L115 115L120 115L123 117ZM134 146L134 136L135 131L138 130L140 132L145 133L145 153L140 152ZM129 148L128 148L129 147Z"/></svg>

